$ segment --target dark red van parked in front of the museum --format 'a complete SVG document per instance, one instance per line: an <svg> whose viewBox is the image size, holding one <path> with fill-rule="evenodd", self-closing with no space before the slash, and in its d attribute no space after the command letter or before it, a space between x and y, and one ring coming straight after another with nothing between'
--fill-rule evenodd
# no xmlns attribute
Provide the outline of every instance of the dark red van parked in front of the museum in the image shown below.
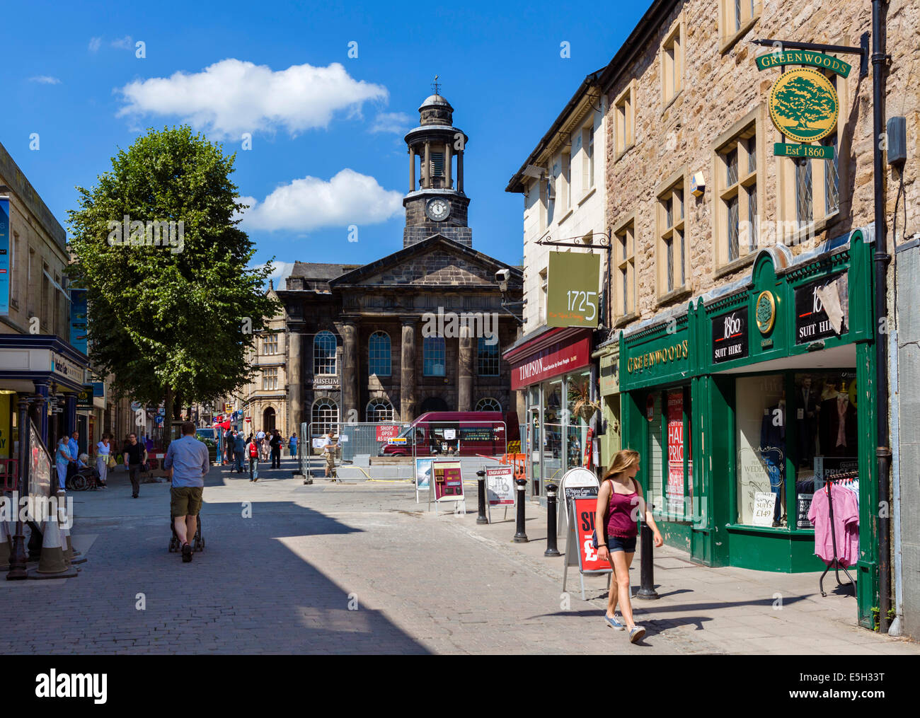
<svg viewBox="0 0 920 718"><path fill-rule="evenodd" d="M413 446L416 456L496 456L506 453L510 442L520 441L521 433L515 412L430 411L392 440L378 456L412 456Z"/></svg>

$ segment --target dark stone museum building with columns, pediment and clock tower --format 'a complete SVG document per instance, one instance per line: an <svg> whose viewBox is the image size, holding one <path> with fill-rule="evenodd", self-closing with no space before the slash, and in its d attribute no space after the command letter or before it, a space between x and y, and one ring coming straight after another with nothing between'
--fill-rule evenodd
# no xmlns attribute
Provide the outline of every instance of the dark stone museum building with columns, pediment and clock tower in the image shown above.
<svg viewBox="0 0 920 718"><path fill-rule="evenodd" d="M278 423L288 432L302 422L318 435L330 422L517 410L501 352L518 336L521 310L502 303L520 302L522 270L473 248L468 138L454 127L454 108L435 94L419 111L406 135L403 248L365 265L296 262L275 291L284 349L268 369L286 377L286 401L272 384L277 405L259 406L286 415Z"/></svg>

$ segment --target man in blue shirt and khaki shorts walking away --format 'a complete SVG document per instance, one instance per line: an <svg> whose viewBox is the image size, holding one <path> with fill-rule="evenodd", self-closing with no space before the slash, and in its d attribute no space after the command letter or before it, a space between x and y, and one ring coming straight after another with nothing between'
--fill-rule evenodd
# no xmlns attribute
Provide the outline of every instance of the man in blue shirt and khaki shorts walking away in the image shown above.
<svg viewBox="0 0 920 718"><path fill-rule="evenodd" d="M182 545L182 562L191 561L189 539L198 530L198 513L201 511L201 494L204 477L211 468L208 447L195 439L195 425L187 421L182 425L182 438L169 443L163 468L172 469L172 488L169 489L169 512L173 518L176 536Z"/></svg>

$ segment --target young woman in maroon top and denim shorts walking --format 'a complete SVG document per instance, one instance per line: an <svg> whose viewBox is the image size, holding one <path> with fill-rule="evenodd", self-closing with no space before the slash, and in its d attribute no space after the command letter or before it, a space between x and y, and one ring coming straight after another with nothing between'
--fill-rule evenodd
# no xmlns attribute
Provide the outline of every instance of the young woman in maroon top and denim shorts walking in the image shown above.
<svg viewBox="0 0 920 718"><path fill-rule="evenodd" d="M664 540L661 531L651 516L642 497L642 487L636 481L638 473L638 451L624 449L617 451L614 462L604 474L604 484L597 496L597 515L594 525L603 527L604 537L598 532L597 557L609 561L613 568L610 577L610 594L607 597L607 613L604 621L616 631L628 629L629 641L636 643L645 635L645 629L633 620L632 603L629 596L629 566L636 555L636 521L643 517L654 533L655 546ZM643 560L644 560L643 556ZM624 623L616 620L617 600Z"/></svg>

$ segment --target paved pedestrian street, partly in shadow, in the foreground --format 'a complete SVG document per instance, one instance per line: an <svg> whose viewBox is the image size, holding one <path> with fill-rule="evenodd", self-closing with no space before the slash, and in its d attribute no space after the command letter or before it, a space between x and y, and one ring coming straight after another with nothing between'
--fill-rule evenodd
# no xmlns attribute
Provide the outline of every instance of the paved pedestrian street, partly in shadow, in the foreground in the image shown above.
<svg viewBox="0 0 920 718"><path fill-rule="evenodd" d="M23 616L0 636L0 652L920 653L859 631L845 611L821 615L826 626L812 629L813 640L790 643L799 612L772 611L768 586L667 553L656 555L661 600L636 602L647 636L629 644L604 628L603 578L586 581L582 601L576 569L563 595L562 560L542 555L542 509L528 508L532 541L513 544L512 523L435 517L409 484L304 485L292 469L290 461L263 468L252 484L214 467L202 509L206 548L191 564L167 553L168 484L144 484L132 500L115 473L108 491L75 494L74 541L87 561L75 578L0 582L0 605ZM638 565L632 574L638 584ZM776 577L780 586L790 580ZM679 585L664 586L672 581ZM751 600L758 591L764 598ZM37 605L58 618L26 619L35 612L23 607Z"/></svg>

